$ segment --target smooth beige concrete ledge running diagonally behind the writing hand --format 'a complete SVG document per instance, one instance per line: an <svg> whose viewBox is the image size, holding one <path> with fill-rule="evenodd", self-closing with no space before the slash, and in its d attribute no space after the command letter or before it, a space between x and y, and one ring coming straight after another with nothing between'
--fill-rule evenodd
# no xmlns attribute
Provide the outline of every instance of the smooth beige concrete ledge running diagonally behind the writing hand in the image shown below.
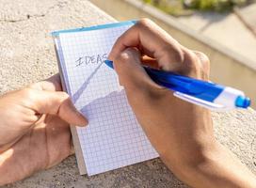
<svg viewBox="0 0 256 188"><path fill-rule="evenodd" d="M108 0L107 4L101 0L91 2L120 21L150 18L184 46L205 53L211 60L211 80L245 91L252 99L253 108L256 108L256 86L253 86L256 80L256 61L232 52L215 40L200 35L175 18L141 1Z"/></svg>

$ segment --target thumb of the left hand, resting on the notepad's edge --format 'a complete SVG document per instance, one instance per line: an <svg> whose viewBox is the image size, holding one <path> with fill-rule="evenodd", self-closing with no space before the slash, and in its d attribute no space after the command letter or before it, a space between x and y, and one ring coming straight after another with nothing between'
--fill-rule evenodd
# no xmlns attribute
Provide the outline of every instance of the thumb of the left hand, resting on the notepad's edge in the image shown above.
<svg viewBox="0 0 256 188"><path fill-rule="evenodd" d="M39 114L56 115L68 123L76 126L88 124L80 112L76 110L69 95L61 91L44 91L24 89L24 95L29 99L30 107Z"/></svg>

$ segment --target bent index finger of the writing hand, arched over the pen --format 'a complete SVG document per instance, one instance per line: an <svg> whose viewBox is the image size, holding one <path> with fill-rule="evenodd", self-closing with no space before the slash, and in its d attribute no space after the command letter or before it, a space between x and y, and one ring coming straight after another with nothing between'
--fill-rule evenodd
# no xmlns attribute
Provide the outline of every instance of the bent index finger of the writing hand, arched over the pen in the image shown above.
<svg viewBox="0 0 256 188"><path fill-rule="evenodd" d="M148 19L142 19L117 39L108 58L114 60L128 48L136 47L142 54L157 60L165 71L179 71L184 62L184 47Z"/></svg>

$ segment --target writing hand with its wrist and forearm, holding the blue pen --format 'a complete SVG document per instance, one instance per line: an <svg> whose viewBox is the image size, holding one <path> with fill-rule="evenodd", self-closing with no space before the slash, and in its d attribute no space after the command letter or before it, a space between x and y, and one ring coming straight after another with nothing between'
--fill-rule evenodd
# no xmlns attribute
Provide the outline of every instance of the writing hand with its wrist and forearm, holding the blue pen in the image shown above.
<svg viewBox="0 0 256 188"><path fill-rule="evenodd" d="M146 58L147 60L146 60ZM136 118L165 164L193 187L252 187L255 177L216 142L210 112L158 86L141 64L208 80L209 59L143 19L116 41L108 56ZM255 186L255 184L254 184Z"/></svg>

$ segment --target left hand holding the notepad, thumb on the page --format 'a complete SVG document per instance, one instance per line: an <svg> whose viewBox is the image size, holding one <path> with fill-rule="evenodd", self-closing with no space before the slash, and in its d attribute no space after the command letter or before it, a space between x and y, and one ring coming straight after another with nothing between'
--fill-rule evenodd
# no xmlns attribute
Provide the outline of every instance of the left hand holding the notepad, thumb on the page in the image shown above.
<svg viewBox="0 0 256 188"><path fill-rule="evenodd" d="M86 125L59 75L0 97L0 185L22 180L73 153L69 124Z"/></svg>

